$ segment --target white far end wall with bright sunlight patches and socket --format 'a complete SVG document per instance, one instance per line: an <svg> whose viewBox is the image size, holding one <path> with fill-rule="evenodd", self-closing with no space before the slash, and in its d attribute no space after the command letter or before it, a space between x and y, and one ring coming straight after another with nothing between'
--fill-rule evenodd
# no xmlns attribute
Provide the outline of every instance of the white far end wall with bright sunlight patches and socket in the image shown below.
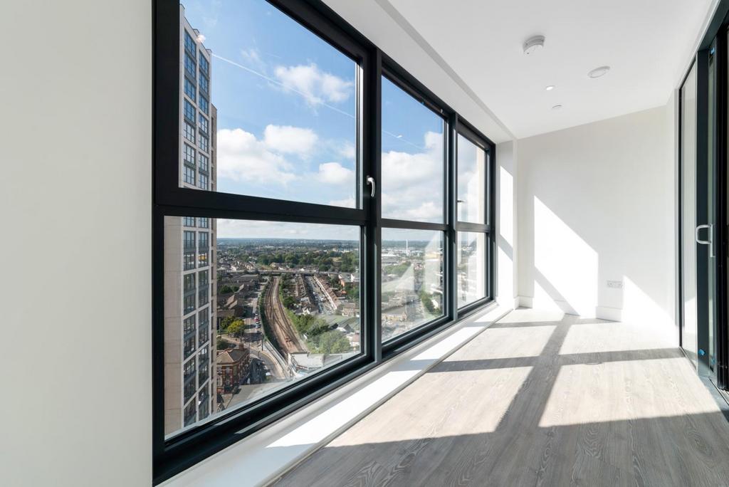
<svg viewBox="0 0 729 487"><path fill-rule="evenodd" d="M521 303L674 332L673 120L671 98L518 141Z"/></svg>

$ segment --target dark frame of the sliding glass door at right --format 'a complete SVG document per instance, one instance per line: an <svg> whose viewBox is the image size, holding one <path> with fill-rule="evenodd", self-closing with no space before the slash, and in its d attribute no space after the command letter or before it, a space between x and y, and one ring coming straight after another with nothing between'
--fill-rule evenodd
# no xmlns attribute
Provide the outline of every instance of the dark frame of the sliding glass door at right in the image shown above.
<svg viewBox="0 0 729 487"><path fill-rule="evenodd" d="M709 217L709 205L714 207L714 224L712 241L714 258L710 257L709 246L698 246L696 249L697 272L697 364L698 373L707 376L720 389L729 388L729 343L727 329L727 234L728 215L727 192L729 187L727 171L727 113L728 90L727 66L729 52L727 49L729 35L727 9L717 12L720 22L712 20L706 36L701 42L695 60L682 80L678 90L678 168L677 168L677 322L679 324L679 346L684 345L684 293L683 293L683 134L682 112L684 101L682 90L691 69L696 72L696 224L706 224ZM713 71L710 57L713 56ZM713 96L709 86L713 85ZM711 117L711 120L710 120ZM711 171L712 178L709 178ZM712 184L713 195L710 196L708 184ZM709 201L709 198L712 198ZM709 267L711 266L711 267ZM709 287L709 273L714 273L713 289ZM710 295L709 295L710 294ZM711 307L711 308L710 308ZM711 313L711 314L710 314ZM711 322L709 319L712 318ZM709 326L712 327L709 330ZM711 359L714 351L714 360ZM701 351L704 353L701 354Z"/></svg>

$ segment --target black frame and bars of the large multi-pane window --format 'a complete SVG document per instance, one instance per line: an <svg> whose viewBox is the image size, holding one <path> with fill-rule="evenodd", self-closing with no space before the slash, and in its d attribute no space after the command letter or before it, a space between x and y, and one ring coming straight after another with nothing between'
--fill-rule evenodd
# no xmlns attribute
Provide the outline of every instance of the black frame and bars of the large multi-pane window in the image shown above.
<svg viewBox="0 0 729 487"><path fill-rule="evenodd" d="M153 99L153 208L152 208L152 451L153 483L163 482L192 467L223 448L238 442L268 424L307 405L324 394L359 377L373 367L407 350L437 332L456 324L469 313L483 309L494 300L494 174L489 175L486 204L490 205L491 227L487 257L487 297L467 308L456 308L455 242L458 224L455 220L455 134L461 127L472 130L489 148L489 171L494 172L495 146L486 136L462 120L440 98L407 70L384 54L378 47L348 25L339 15L319 0L266 0L273 7L300 23L313 34L352 58L360 66L361 87L358 96L359 121L357 152L356 209L317 203L277 200L224 192L200 191L179 184L182 145L179 129L182 96L179 77L179 2L154 1L154 99ZM381 180L381 77L396 79L408 92L446 120L445 144L445 219L443 224L386 220L381 218L381 198L370 196L364 179ZM196 122L196 120L195 120ZM215 130L215 127L211 127ZM354 358L321 370L303 381L274 391L244 408L231 410L215 418L194 424L179 435L165 440L164 434L164 219L165 217L254 219L272 222L324 223L359 227L360 234L360 306L361 353ZM405 226L399 226L405 225ZM440 319L381 343L381 229L437 227L444 232L444 314ZM208 260L208 264L212 258ZM197 261L197 259L195 259Z"/></svg>

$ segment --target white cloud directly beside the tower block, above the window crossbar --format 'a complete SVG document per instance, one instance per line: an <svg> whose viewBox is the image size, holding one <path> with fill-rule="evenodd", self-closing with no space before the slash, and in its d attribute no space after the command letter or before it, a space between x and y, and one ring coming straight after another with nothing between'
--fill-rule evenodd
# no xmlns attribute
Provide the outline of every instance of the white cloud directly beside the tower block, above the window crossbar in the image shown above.
<svg viewBox="0 0 729 487"><path fill-rule="evenodd" d="M241 128L218 130L218 176L233 181L283 184L296 178L284 157Z"/></svg>

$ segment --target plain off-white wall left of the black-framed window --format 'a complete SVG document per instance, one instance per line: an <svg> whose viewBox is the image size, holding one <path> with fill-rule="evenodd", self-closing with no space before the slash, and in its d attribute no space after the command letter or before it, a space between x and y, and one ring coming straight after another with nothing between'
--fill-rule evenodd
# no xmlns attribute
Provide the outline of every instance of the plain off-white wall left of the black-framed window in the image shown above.
<svg viewBox="0 0 729 487"><path fill-rule="evenodd" d="M4 486L151 483L151 12L3 6Z"/></svg>

